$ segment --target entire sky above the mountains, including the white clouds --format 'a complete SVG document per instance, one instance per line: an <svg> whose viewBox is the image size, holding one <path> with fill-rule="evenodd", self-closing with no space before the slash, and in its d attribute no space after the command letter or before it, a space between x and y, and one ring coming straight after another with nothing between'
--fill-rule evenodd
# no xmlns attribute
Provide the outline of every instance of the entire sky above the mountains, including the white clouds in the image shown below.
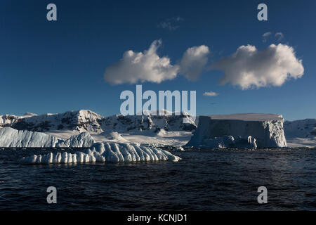
<svg viewBox="0 0 316 225"><path fill-rule="evenodd" d="M46 19L50 3L57 21ZM197 115L315 118L315 22L312 0L4 0L0 115L114 115L121 92L142 84L197 91Z"/></svg>

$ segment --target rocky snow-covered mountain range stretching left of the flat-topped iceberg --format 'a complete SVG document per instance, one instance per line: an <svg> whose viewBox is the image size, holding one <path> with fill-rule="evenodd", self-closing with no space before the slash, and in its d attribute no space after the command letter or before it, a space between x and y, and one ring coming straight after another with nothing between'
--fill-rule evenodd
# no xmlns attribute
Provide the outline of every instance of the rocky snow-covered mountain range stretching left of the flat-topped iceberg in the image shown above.
<svg viewBox="0 0 316 225"><path fill-rule="evenodd" d="M189 123L183 123L187 119ZM192 131L197 126L190 115L114 115L102 117L91 110L69 111L58 114L24 116L0 116L0 128L12 127L28 131L88 131L100 134L103 131Z"/></svg>

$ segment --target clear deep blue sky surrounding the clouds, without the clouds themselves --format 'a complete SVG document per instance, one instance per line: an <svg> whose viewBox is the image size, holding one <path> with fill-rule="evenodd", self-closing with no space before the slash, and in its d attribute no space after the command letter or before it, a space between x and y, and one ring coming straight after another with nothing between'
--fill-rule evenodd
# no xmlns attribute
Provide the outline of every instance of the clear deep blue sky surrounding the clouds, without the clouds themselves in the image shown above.
<svg viewBox="0 0 316 225"><path fill-rule="evenodd" d="M58 21L46 20L46 6L58 7ZM256 7L268 5L268 21ZM181 17L177 30L158 27ZM162 39L159 56L177 63L191 46L209 46L209 62L230 56L241 45L262 50L265 32L282 32L305 68L301 79L279 87L242 91L218 85L220 71L205 71L197 82L183 76L144 90L197 90L197 115L280 113L287 120L316 117L316 1L16 1L0 3L0 115L62 113L90 109L119 113L124 90L135 84L105 83L105 68L124 51L144 51ZM216 91L214 97L202 96Z"/></svg>

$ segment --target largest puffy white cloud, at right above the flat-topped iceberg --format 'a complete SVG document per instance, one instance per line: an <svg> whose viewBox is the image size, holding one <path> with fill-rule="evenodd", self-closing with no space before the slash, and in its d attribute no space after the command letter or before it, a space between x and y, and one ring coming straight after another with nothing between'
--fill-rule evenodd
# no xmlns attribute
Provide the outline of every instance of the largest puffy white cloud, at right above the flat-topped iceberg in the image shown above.
<svg viewBox="0 0 316 225"><path fill-rule="evenodd" d="M281 86L288 79L301 78L304 73L302 60L294 49L285 44L271 44L258 51L255 46L240 46L235 53L213 63L211 68L223 70L220 84L230 83L242 89L262 86Z"/></svg>

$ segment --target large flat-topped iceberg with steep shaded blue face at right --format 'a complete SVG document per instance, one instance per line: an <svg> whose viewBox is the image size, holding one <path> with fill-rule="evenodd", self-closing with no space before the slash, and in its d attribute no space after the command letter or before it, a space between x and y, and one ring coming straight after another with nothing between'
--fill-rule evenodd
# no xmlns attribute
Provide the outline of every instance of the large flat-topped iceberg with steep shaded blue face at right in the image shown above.
<svg viewBox="0 0 316 225"><path fill-rule="evenodd" d="M244 139L258 148L287 147L283 121L282 115L274 114L199 116L197 130L186 146L208 147L218 141L218 143L224 143L224 146L239 148L240 141ZM233 145L233 140L229 141L227 136L232 136L236 145ZM238 139L239 141L236 142Z"/></svg>

